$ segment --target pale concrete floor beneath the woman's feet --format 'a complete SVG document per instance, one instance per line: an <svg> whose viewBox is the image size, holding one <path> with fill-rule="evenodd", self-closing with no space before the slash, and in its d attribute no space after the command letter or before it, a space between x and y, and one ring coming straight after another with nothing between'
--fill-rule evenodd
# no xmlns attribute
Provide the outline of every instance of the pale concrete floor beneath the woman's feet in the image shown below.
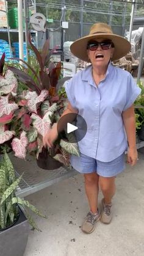
<svg viewBox="0 0 144 256"><path fill-rule="evenodd" d="M26 197L48 219L35 218L42 232L29 232L24 256L143 256L144 255L144 154L137 166L126 166L117 177L110 225L100 221L90 235L82 233L88 203L82 175ZM99 194L99 203L102 194Z"/></svg>

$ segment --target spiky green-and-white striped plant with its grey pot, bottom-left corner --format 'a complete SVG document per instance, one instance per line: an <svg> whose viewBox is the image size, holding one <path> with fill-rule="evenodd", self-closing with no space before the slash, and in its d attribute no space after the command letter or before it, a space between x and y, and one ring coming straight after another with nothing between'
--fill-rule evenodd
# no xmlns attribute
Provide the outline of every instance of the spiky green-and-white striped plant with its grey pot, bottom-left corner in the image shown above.
<svg viewBox="0 0 144 256"><path fill-rule="evenodd" d="M12 162L4 150L0 162L0 251L1 256L23 256L29 233L28 222L38 229L28 208L38 216L43 216L28 201L16 196L16 188L21 177L15 177ZM20 205L23 208L20 208ZM28 222L27 222L28 220Z"/></svg>

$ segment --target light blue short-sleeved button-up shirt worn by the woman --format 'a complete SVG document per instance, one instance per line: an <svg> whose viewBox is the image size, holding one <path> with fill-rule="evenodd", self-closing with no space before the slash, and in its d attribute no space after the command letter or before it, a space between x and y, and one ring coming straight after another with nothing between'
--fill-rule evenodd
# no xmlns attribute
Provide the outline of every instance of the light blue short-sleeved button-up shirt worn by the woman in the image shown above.
<svg viewBox="0 0 144 256"><path fill-rule="evenodd" d="M131 74L110 63L97 87L90 65L76 73L65 90L71 106L87 123L87 133L78 142L80 152L103 162L120 156L128 147L121 114L141 92Z"/></svg>

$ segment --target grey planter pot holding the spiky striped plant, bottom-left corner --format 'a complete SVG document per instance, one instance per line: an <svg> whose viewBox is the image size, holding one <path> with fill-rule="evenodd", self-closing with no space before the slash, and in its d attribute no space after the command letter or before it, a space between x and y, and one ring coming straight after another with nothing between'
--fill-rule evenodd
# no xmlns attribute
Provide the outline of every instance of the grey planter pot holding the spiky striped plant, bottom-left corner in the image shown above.
<svg viewBox="0 0 144 256"><path fill-rule="evenodd" d="M29 224L20 209L18 221L11 227L0 230L0 255L23 256L29 234Z"/></svg>

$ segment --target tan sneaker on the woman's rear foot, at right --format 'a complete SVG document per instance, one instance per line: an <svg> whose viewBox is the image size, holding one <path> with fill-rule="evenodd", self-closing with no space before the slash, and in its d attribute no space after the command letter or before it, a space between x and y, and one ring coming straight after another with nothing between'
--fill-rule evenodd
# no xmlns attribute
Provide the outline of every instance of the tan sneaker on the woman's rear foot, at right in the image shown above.
<svg viewBox="0 0 144 256"><path fill-rule="evenodd" d="M101 212L101 222L103 222L104 224L109 224L110 221L112 221L112 203L109 204L105 204L104 203L104 199L102 199L102 207L103 210Z"/></svg>

